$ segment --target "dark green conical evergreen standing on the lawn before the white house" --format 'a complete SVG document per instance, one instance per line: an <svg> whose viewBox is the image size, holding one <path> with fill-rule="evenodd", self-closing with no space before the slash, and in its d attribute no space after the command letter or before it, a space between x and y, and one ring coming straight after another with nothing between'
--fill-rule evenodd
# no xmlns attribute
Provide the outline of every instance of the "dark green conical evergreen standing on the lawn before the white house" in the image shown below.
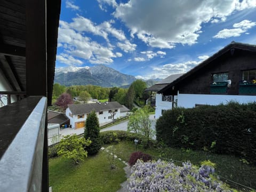
<svg viewBox="0 0 256 192"><path fill-rule="evenodd" d="M95 111L92 111L86 118L84 138L92 141L91 145L86 148L88 153L90 155L97 154L102 146L102 141L100 139L99 119Z"/></svg>

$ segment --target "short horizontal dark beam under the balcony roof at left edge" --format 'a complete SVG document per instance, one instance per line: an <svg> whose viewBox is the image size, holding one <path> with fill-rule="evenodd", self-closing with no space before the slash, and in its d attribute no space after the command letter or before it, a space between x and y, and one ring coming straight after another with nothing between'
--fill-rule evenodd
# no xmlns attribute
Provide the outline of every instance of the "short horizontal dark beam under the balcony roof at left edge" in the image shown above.
<svg viewBox="0 0 256 192"><path fill-rule="evenodd" d="M14 56L26 57L26 48L2 44L0 46L0 54L4 54L4 55L8 55L8 56L14 55Z"/></svg>

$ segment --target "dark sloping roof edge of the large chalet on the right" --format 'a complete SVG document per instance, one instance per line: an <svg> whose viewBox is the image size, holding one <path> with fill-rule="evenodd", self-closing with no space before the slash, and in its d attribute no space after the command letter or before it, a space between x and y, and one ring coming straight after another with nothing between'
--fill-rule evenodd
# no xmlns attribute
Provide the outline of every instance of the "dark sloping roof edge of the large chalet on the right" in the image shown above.
<svg viewBox="0 0 256 192"><path fill-rule="evenodd" d="M189 77L196 75L199 70L211 65L212 61L219 59L220 57L230 57L229 55L233 55L235 50L256 52L256 45L237 43L233 41L217 53L213 54L210 58L204 60L202 63L189 70L187 73L175 79L175 81L173 81L169 85L163 87L163 89L159 90L158 93L162 93L164 95L177 94L177 91L179 90L179 85L182 85L182 83L186 81Z"/></svg>

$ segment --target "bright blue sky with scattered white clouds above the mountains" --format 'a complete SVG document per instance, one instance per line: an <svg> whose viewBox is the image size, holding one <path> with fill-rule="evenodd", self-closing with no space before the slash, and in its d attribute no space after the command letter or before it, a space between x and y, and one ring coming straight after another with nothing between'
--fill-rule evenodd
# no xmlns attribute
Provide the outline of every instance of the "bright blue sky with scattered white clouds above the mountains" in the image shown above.
<svg viewBox="0 0 256 192"><path fill-rule="evenodd" d="M256 0L62 0L56 68L165 78L255 32Z"/></svg>

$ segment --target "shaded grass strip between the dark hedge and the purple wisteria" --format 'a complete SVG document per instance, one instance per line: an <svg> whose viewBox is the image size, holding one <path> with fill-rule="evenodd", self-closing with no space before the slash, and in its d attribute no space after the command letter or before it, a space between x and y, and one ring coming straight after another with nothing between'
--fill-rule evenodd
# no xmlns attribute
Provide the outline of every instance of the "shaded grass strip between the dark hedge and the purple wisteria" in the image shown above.
<svg viewBox="0 0 256 192"><path fill-rule="evenodd" d="M134 142L124 141L115 145L116 155L121 157L125 161L129 160L130 154L135 152ZM193 151L193 150L181 150L175 148L151 148L144 149L142 146L137 146L137 151L147 153L154 156L155 159L163 158L166 161L173 159L181 162L190 161L194 165L200 166L200 163L205 160L210 160L216 163L216 173L224 178L233 180L244 186L256 189L256 166L251 164L247 165L239 161L238 157L228 155L218 155L209 153L206 151ZM181 165L180 162L175 162L177 165ZM222 181L228 183L231 187L242 190L250 191L249 189L236 185L223 178Z"/></svg>

